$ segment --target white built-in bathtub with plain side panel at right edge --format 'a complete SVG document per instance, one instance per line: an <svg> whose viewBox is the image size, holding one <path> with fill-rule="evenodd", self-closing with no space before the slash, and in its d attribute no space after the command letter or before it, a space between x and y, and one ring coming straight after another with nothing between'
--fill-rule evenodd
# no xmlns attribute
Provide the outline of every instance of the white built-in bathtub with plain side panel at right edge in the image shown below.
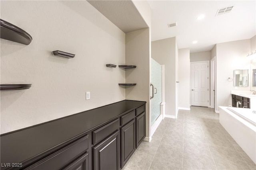
<svg viewBox="0 0 256 170"><path fill-rule="evenodd" d="M220 106L220 124L256 163L256 113L253 111Z"/></svg>

